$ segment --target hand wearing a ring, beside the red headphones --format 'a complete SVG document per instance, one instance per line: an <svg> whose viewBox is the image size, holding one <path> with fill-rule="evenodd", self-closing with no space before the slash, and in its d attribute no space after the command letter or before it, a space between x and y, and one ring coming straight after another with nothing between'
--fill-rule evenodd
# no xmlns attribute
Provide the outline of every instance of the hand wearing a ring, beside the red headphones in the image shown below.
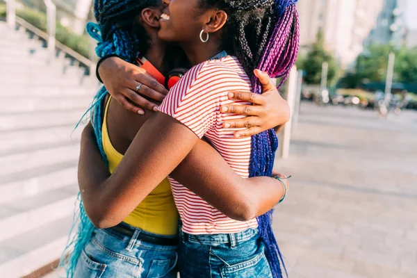
<svg viewBox="0 0 417 278"><path fill-rule="evenodd" d="M140 115L145 113L143 108L158 111L158 106L149 99L162 102L168 93L163 85L141 67L121 58L111 57L104 60L100 64L99 74L110 95L124 108ZM140 91L136 92L140 83L142 83Z"/></svg>

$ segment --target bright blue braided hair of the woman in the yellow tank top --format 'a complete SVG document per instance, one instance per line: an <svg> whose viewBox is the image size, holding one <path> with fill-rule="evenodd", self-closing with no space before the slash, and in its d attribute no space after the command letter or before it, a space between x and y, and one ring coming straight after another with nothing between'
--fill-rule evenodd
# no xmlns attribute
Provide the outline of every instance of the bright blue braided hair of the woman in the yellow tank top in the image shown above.
<svg viewBox="0 0 417 278"><path fill-rule="evenodd" d="M97 56L102 58L108 54L117 54L127 62L133 63L139 52L145 54L149 49L149 40L138 16L144 8L156 8L160 5L161 0L95 0L95 17L98 23L89 22L86 29L88 34L98 42L95 49ZM81 118L82 120L90 113L97 145L106 165L107 158L101 140L101 127L104 117L104 97L107 94L106 88L102 86L93 98L92 105ZM80 193L76 204L78 205L74 211L70 236L60 258L60 266L65 269L68 278L74 276L81 252L90 241L95 229L85 213Z"/></svg>

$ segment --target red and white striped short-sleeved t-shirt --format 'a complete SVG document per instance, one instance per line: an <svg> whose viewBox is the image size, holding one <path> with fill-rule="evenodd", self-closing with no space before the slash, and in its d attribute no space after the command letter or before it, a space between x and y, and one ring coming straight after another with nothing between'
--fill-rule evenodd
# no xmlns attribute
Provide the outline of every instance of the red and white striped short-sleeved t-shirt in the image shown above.
<svg viewBox="0 0 417 278"><path fill-rule="evenodd" d="M228 99L230 91L252 90L250 79L233 56L208 60L193 67L159 110L188 126L199 138L206 136L230 167L241 177L249 177L251 138L235 138L236 129L224 129L222 122L242 115L220 113L220 106L236 104ZM246 102L238 102L247 104ZM208 163L210 163L208 161ZM258 227L256 219L240 222L228 218L202 198L170 178L183 231L188 234L229 234Z"/></svg>

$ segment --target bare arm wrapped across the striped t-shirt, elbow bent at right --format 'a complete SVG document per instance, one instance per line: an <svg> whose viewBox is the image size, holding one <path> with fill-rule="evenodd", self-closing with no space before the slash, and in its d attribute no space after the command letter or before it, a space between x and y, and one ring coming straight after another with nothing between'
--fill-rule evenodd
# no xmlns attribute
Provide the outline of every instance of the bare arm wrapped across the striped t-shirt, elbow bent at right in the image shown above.
<svg viewBox="0 0 417 278"><path fill-rule="evenodd" d="M170 176L229 218L240 221L263 215L284 196L284 187L276 179L240 177L204 140L197 142Z"/></svg>

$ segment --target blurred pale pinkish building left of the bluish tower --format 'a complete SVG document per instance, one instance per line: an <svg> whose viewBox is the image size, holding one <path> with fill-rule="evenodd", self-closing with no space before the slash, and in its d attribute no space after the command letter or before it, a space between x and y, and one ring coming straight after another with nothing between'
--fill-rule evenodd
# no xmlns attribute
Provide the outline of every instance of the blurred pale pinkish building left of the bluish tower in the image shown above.
<svg viewBox="0 0 417 278"><path fill-rule="evenodd" d="M325 47L333 51L343 67L352 65L363 51L363 41L377 23L384 0L299 1L300 43L316 41L320 28Z"/></svg>

